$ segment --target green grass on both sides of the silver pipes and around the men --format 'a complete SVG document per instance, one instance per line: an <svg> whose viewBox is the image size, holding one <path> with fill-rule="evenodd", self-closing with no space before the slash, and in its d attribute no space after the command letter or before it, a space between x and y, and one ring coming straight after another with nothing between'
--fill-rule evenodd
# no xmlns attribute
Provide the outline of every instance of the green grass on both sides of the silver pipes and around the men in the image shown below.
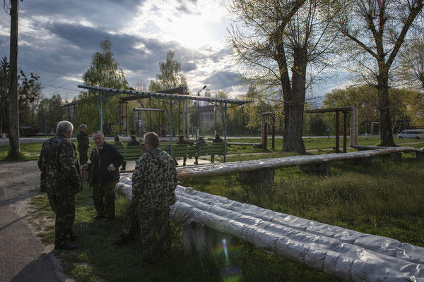
<svg viewBox="0 0 424 282"><path fill-rule="evenodd" d="M313 154L321 154L314 152ZM271 152L228 157L228 161L287 157ZM424 162L415 154L402 161L374 160L367 166L336 162L331 176L307 174L298 167L276 170L274 183L242 183L237 176L222 176L184 182L215 195L255 204L276 212L293 214L355 231L387 236L424 247ZM33 198L39 209L30 221L45 243L53 243L52 212L45 195ZM228 257L222 248L206 257L184 254L182 227L172 223L172 259L146 265L139 262L139 238L115 246L111 238L120 233L128 200L116 201L117 220L93 221L91 190L76 196L74 229L80 235L78 250L63 252L64 271L77 281L335 281L326 274L266 255L249 243L232 240ZM50 223L42 221L50 219Z"/></svg>

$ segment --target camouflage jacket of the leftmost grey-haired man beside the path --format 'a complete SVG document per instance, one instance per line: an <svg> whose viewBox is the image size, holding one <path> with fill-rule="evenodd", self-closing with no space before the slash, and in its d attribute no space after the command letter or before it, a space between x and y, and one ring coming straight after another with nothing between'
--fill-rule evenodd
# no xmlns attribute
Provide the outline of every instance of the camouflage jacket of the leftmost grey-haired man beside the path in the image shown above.
<svg viewBox="0 0 424 282"><path fill-rule="evenodd" d="M75 195L81 191L81 172L75 145L57 134L42 144L40 158L40 192L52 195Z"/></svg>

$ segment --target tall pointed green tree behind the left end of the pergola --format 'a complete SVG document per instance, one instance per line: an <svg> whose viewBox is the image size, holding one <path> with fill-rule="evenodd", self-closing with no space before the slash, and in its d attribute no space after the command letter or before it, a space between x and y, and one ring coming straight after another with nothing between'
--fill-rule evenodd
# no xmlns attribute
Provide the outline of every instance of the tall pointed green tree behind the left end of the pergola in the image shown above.
<svg viewBox="0 0 424 282"><path fill-rule="evenodd" d="M110 87L115 89L128 89L129 85L124 76L122 68L112 53L112 42L106 38L100 43L100 52L93 55L90 68L84 73L85 85ZM100 102L99 102L100 103ZM81 92L78 101L78 118L80 123L88 125L89 132L100 130L100 115L95 93ZM104 104L104 125L119 123L118 97L107 99ZM107 128L107 126L104 126Z"/></svg>

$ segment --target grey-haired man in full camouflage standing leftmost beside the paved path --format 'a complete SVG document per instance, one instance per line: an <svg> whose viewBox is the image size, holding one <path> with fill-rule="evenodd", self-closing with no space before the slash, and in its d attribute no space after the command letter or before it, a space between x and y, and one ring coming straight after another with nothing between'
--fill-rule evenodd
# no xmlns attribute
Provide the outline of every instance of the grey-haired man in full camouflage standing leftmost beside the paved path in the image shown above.
<svg viewBox="0 0 424 282"><path fill-rule="evenodd" d="M82 189L81 173L76 159L75 145L69 140L73 126L69 121L57 124L57 135L46 140L38 159L40 192L47 192L54 222L54 249L71 250L75 219L75 195Z"/></svg>

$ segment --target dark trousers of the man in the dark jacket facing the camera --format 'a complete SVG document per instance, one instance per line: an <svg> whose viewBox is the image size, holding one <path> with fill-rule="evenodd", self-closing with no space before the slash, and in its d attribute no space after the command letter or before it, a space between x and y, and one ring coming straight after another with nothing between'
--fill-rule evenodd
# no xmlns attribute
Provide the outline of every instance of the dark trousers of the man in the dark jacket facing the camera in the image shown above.
<svg viewBox="0 0 424 282"><path fill-rule="evenodd" d="M117 181L93 185L93 204L99 216L114 219L114 187Z"/></svg>

